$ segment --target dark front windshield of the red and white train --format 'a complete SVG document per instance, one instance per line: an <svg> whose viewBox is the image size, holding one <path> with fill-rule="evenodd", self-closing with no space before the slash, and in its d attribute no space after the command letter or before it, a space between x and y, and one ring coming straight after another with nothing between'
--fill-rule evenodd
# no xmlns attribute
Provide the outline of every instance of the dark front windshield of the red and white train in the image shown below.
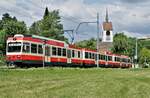
<svg viewBox="0 0 150 98"><path fill-rule="evenodd" d="M8 52L21 52L21 42L9 42Z"/></svg>

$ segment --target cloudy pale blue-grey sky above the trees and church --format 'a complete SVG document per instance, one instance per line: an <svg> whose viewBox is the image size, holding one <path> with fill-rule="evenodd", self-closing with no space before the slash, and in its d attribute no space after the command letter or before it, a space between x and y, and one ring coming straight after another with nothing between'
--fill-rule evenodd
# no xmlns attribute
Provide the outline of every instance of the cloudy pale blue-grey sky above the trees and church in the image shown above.
<svg viewBox="0 0 150 98"><path fill-rule="evenodd" d="M28 27L43 17L45 7L59 10L65 30L76 29L80 22L96 21L100 16L100 35L106 8L113 32L130 37L150 36L150 0L0 0L0 18L4 13L25 21ZM67 34L66 34L67 35ZM82 24L75 40L97 37L96 24Z"/></svg>

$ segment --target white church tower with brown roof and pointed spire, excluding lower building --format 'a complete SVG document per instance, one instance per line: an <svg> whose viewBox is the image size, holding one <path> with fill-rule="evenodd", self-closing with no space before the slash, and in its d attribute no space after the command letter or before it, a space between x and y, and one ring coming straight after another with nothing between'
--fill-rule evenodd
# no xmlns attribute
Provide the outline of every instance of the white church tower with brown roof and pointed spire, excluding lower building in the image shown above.
<svg viewBox="0 0 150 98"><path fill-rule="evenodd" d="M103 22L102 42L113 42L112 22L109 21L108 10L106 9L105 22Z"/></svg>

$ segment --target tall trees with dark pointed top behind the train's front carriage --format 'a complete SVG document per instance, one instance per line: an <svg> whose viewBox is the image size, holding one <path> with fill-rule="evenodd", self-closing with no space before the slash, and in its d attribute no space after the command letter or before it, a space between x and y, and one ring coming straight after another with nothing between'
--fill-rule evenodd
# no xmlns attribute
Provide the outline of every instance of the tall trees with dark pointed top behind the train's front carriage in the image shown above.
<svg viewBox="0 0 150 98"><path fill-rule="evenodd" d="M46 8L43 19L34 22L30 27L30 34L67 41L67 38L64 37L63 25L60 23L60 19L58 10L49 12Z"/></svg>

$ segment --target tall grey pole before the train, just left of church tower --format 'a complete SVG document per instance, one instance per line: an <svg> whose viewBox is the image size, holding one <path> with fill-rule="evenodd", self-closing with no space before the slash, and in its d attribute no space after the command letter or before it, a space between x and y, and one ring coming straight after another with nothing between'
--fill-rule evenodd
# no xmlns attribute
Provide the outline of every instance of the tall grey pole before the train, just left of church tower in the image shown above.
<svg viewBox="0 0 150 98"><path fill-rule="evenodd" d="M96 50L97 50L97 59L96 59L96 62L97 62L97 67L99 67L99 62L98 62L98 59L99 59L99 13L97 13L97 47L96 47Z"/></svg>

